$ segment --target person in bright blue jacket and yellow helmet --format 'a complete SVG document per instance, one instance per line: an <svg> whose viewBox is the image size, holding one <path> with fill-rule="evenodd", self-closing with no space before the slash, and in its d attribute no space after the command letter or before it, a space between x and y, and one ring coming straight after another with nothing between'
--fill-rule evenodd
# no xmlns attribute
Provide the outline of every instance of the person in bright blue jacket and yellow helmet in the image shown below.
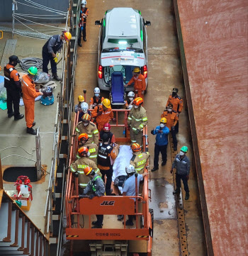
<svg viewBox="0 0 248 256"><path fill-rule="evenodd" d="M154 167L152 172L159 169L159 152L162 155L162 166L167 164L167 145L169 128L166 126L167 118L161 118L160 125L151 130L152 135L156 135L156 143L154 147Z"/></svg>

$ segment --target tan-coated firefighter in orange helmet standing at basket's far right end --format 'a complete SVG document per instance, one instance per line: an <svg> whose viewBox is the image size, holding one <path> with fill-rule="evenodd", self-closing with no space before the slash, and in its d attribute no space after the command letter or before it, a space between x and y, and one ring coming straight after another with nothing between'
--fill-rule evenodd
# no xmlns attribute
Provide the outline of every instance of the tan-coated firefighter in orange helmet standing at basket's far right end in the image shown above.
<svg viewBox="0 0 248 256"><path fill-rule="evenodd" d="M141 105L142 98L137 97L133 101L133 108L130 110L128 116L128 127L130 129L130 138L132 143L142 145L142 130L147 125L147 111Z"/></svg>

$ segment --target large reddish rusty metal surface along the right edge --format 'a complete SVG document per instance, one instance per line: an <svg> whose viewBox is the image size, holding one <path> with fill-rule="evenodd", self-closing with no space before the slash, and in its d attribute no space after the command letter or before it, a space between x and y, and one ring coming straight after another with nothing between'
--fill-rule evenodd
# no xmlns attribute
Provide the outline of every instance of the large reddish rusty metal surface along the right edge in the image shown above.
<svg viewBox="0 0 248 256"><path fill-rule="evenodd" d="M247 255L247 1L177 4L208 254Z"/></svg>

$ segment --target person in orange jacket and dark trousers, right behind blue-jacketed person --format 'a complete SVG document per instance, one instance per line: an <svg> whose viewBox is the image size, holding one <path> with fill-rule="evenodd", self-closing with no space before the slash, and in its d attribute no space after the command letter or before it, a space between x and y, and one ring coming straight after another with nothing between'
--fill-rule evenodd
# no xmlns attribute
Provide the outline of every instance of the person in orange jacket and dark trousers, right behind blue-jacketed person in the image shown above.
<svg viewBox="0 0 248 256"><path fill-rule="evenodd" d="M176 132L175 126L176 123L179 121L179 114L173 110L173 104L169 103L167 109L161 115L161 118L167 118L167 127L169 128L173 140L174 151L177 150L177 140L176 140Z"/></svg>

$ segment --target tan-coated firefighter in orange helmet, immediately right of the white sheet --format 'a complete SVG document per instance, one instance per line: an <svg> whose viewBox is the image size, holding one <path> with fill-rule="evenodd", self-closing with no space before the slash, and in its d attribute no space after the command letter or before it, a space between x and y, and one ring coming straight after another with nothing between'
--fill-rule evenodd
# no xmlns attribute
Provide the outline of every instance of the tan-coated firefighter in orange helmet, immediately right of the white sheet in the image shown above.
<svg viewBox="0 0 248 256"><path fill-rule="evenodd" d="M150 156L149 152L142 152L140 144L133 143L131 145L133 150L133 157L130 160L130 165L135 167L135 172L142 174L147 164L148 157Z"/></svg>

